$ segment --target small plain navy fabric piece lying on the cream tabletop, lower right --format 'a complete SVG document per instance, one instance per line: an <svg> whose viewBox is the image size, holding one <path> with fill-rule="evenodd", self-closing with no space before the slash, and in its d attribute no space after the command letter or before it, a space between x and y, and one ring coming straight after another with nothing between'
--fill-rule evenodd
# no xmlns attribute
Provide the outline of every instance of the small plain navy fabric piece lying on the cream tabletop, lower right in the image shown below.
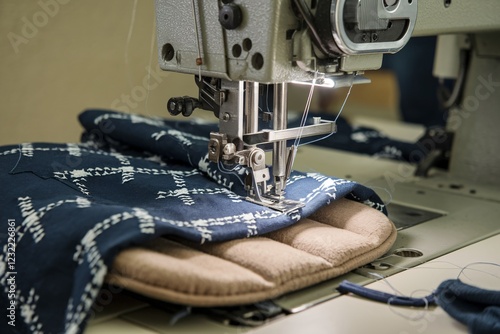
<svg viewBox="0 0 500 334"><path fill-rule="evenodd" d="M473 334L500 333L500 291L485 290L451 279L436 290L437 303Z"/></svg>

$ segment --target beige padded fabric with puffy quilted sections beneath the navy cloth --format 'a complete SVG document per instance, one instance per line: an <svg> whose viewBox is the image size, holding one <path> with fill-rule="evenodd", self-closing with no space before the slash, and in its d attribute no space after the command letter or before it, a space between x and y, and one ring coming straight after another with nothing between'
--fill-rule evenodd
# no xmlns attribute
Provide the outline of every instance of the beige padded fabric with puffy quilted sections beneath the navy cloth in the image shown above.
<svg viewBox="0 0 500 334"><path fill-rule="evenodd" d="M341 199L261 237L204 245L159 238L127 249L116 257L107 281L192 306L254 303L362 266L395 239L385 215Z"/></svg>

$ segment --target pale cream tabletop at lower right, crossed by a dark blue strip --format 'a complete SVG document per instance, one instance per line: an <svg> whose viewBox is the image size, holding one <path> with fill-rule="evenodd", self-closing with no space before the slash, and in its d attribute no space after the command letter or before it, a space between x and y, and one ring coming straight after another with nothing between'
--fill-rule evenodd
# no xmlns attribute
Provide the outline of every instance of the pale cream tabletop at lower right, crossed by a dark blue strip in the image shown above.
<svg viewBox="0 0 500 334"><path fill-rule="evenodd" d="M423 296L442 281L460 276L465 282L483 288L500 289L498 264L500 235L462 248L420 266L393 275L367 287L405 295ZM388 284L389 283L389 284ZM441 308L405 309L341 296L294 316L278 320L252 333L467 333L467 328L449 317Z"/></svg>

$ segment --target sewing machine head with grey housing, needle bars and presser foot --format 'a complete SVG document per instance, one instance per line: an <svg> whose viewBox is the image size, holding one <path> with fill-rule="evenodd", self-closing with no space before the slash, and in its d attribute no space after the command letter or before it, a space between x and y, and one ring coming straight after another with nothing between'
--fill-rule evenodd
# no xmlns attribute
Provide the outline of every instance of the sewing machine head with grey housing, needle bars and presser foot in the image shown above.
<svg viewBox="0 0 500 334"><path fill-rule="evenodd" d="M363 71L378 69L383 53L410 38L417 1L157 0L156 15L160 67L195 75L200 92L170 99L169 112L213 111L219 132L210 137L210 160L248 167L248 199L289 211L301 203L284 198L297 148L287 141L333 133L335 123L287 129L287 83L369 82ZM272 85L272 112L259 108L262 85ZM273 151L270 185L266 144Z"/></svg>

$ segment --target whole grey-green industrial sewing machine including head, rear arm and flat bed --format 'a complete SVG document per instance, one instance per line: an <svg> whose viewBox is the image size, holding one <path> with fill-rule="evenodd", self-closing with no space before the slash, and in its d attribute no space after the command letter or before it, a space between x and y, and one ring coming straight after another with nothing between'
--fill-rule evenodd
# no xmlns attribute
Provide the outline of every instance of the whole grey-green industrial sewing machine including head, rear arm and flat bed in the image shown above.
<svg viewBox="0 0 500 334"><path fill-rule="evenodd" d="M214 113L219 131L210 136L209 158L248 170L249 201L284 212L300 207L286 199L286 180L292 166L307 170L311 161L325 174L350 174L388 189L393 195L388 209L402 224L398 240L383 261L347 275L367 284L374 281L374 272L393 275L500 232L498 13L496 0L157 0L160 66L193 75L199 88L197 98L171 98L168 110L184 116L195 108ZM319 148L304 150L296 159L296 147L287 147L287 141L328 135L336 124L317 119L313 125L287 128L289 83L332 88L367 83L363 71L378 69L385 53L421 35L439 35L435 74L455 78L457 85L455 100L448 101L449 133L429 137L423 164L373 161ZM450 133L451 149L442 145ZM268 149L271 169L264 153ZM433 168L443 157L449 159L448 169ZM322 160L339 163L326 166ZM339 280L273 302L285 313L296 313L338 295L334 287ZM203 324L196 325L199 329L222 330L206 319L197 321ZM286 323L282 319L275 329L289 331Z"/></svg>

